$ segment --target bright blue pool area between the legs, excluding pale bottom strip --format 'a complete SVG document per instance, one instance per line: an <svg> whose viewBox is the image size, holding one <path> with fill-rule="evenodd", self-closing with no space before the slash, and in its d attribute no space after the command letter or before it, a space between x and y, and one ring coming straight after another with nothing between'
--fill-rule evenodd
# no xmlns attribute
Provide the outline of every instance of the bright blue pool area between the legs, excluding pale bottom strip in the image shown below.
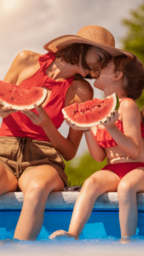
<svg viewBox="0 0 144 256"><path fill-rule="evenodd" d="M20 211L0 212L0 240L13 239L19 216ZM72 211L45 211L43 227L37 237L37 241L48 240L49 235L55 230L68 230L71 217ZM139 212L136 235L144 236L144 212ZM80 236L80 240L107 236L120 238L118 211L92 212Z"/></svg>

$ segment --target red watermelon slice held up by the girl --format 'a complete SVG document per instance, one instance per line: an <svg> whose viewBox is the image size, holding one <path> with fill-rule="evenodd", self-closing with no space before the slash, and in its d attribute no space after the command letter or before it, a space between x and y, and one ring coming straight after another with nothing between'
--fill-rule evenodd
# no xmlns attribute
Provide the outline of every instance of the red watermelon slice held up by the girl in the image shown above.
<svg viewBox="0 0 144 256"><path fill-rule="evenodd" d="M118 96L113 93L106 99L94 99L78 104L77 102L62 109L64 117L79 127L100 125L99 121L106 122L107 115L118 110Z"/></svg>

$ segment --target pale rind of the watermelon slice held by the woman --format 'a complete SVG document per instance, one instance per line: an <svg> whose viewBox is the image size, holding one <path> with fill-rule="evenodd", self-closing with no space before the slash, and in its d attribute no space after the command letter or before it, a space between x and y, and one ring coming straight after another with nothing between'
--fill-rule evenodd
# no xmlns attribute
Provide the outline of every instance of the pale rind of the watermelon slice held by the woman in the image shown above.
<svg viewBox="0 0 144 256"><path fill-rule="evenodd" d="M40 106L41 104L43 104L43 102L45 101L46 97L48 95L48 91L43 89L43 96L40 97L40 99L38 99L36 102L33 102L32 104L29 104L29 105L21 105L21 106L17 106L17 105L14 105L14 104L9 104L8 102L0 102L0 104L2 104L4 107L12 107L12 109L14 110L24 110L24 109L33 109L34 106L33 104L37 104L37 106Z"/></svg>

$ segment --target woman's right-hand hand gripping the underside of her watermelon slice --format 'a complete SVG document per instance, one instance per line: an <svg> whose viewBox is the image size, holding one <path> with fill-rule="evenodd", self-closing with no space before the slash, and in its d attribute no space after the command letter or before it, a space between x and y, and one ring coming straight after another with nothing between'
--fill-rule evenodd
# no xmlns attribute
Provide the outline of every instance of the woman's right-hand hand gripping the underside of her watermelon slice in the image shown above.
<svg viewBox="0 0 144 256"><path fill-rule="evenodd" d="M21 110L20 112L25 113L26 116L29 119L32 120L32 123L34 125L38 125L38 126L41 126L43 128L47 127L48 126L48 121L50 120L48 113L45 112L45 110L43 109L42 106L38 107L37 104L33 104L33 106L36 108L38 114L32 112L29 109L24 109L24 110Z"/></svg>

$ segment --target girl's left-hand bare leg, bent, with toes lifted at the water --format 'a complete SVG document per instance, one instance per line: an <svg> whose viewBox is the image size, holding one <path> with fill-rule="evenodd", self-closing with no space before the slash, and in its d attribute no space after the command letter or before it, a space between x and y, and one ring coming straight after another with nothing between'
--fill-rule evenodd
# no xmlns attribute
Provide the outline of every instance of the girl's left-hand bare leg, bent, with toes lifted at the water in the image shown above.
<svg viewBox="0 0 144 256"><path fill-rule="evenodd" d="M97 197L108 191L117 191L119 181L119 177L111 171L101 170L100 172L95 172L90 176L84 182L84 186L79 193L78 200L76 201L72 213L68 233L66 231L59 230L54 232L50 238L67 235L78 239L78 236L84 229L84 225L90 217Z"/></svg>

